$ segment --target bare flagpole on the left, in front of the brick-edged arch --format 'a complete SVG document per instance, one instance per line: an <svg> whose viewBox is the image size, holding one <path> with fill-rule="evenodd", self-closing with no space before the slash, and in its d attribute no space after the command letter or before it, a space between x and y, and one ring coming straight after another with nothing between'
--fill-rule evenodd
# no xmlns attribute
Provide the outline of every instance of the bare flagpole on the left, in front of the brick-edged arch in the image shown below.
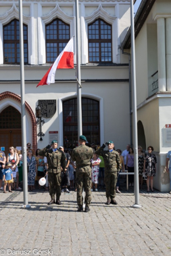
<svg viewBox="0 0 171 256"><path fill-rule="evenodd" d="M24 44L23 44L23 7L22 0L19 0L19 42L20 42L20 91L21 91L21 112L22 112L22 156L23 156L23 209L30 208L28 204L27 185L27 144L26 144L26 109L25 109L25 85L24 85Z"/></svg>

